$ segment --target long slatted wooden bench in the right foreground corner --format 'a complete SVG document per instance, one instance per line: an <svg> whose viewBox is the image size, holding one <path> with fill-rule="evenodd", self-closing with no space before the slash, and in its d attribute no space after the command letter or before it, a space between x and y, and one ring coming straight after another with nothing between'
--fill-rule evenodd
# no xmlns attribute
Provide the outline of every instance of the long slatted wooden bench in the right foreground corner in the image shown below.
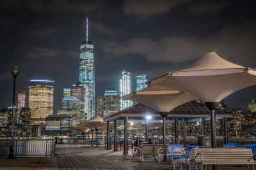
<svg viewBox="0 0 256 170"><path fill-rule="evenodd" d="M193 148L195 162L201 164L201 169L207 165L255 165L250 148ZM197 166L196 166L197 169ZM254 166L252 166L254 169Z"/></svg>

